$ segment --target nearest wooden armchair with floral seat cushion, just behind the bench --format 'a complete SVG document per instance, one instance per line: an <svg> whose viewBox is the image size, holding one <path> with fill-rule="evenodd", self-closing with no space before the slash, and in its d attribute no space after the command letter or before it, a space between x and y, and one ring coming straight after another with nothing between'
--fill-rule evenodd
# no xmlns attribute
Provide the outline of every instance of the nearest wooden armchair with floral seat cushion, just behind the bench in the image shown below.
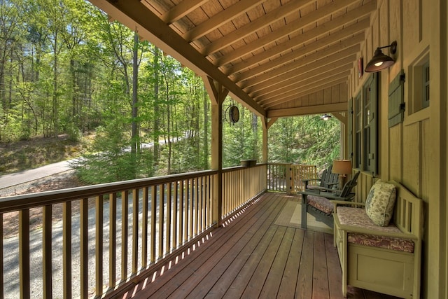
<svg viewBox="0 0 448 299"><path fill-rule="evenodd" d="M298 191L297 193L302 195L302 228L307 228L307 213L316 217L317 221L321 221L332 228L334 204L330 200L353 200L355 193L351 193L351 190L356 186L358 176L359 172L353 174L342 190L321 187L318 193L316 190Z"/></svg>

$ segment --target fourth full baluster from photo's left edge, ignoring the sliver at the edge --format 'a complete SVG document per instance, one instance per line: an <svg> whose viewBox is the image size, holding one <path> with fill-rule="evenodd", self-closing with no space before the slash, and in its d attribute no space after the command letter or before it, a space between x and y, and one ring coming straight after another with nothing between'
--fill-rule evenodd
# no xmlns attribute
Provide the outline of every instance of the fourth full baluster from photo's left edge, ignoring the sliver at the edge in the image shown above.
<svg viewBox="0 0 448 299"><path fill-rule="evenodd" d="M89 257L88 257L88 221L89 204L88 198L80 200L80 298L89 297Z"/></svg>

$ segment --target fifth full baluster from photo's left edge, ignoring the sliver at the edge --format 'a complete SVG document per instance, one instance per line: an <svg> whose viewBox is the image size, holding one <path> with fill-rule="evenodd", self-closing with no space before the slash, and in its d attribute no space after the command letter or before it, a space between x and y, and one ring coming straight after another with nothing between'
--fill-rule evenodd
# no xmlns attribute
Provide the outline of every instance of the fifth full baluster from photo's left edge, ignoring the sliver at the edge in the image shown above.
<svg viewBox="0 0 448 299"><path fill-rule="evenodd" d="M97 196L95 200L95 208L97 214L95 215L95 293L97 296L103 293L103 196Z"/></svg>

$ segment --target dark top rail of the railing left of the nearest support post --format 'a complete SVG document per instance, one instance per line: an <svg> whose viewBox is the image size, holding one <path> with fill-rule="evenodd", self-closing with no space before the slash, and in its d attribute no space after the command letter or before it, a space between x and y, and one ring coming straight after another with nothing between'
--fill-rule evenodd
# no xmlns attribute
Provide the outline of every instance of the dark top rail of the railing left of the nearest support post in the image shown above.
<svg viewBox="0 0 448 299"><path fill-rule="evenodd" d="M113 183L102 183L92 186L83 186L69 189L45 191L25 195L14 195L10 197L0 197L0 213L17 211L18 209L31 209L33 207L43 207L48 204L69 202L83 198L106 195L125 190L156 186L162 183L172 183L183 181L200 176L210 176L218 173L216 170L205 170L201 172L188 172L185 174L172 174L169 176L158 176L148 179L134 179L130 181L119 181Z"/></svg>

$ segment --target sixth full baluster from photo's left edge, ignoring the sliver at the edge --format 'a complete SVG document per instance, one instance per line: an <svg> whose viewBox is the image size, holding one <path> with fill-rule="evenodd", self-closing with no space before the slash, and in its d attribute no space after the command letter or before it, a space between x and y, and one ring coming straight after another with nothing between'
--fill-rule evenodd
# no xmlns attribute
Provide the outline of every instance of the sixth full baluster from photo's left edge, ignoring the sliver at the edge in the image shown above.
<svg viewBox="0 0 448 299"><path fill-rule="evenodd" d="M109 287L117 281L117 193L109 195Z"/></svg>

